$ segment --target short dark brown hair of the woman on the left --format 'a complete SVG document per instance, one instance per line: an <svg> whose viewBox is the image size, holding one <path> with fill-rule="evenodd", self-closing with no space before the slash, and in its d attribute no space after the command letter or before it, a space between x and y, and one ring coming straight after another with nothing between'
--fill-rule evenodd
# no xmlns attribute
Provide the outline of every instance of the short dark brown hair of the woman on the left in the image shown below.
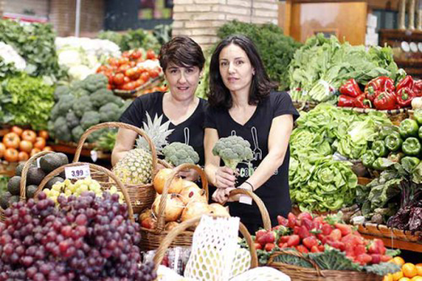
<svg viewBox="0 0 422 281"><path fill-rule="evenodd" d="M186 36L174 37L162 45L160 49L160 65L165 72L170 63L179 67L199 67L203 70L205 58L202 48Z"/></svg>

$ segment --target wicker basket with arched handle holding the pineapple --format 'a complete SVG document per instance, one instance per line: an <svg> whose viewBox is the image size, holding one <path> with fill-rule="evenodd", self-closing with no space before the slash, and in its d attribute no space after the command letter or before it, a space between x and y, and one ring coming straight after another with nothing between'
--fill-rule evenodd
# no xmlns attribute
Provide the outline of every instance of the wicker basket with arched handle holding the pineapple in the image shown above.
<svg viewBox="0 0 422 281"><path fill-rule="evenodd" d="M150 148L151 148L151 155L153 157L153 166L152 166L152 177L154 178L155 175L155 168L157 166L157 153L155 152L155 146L153 145L151 138L149 138L146 133L139 129L136 126L132 126L129 124L124 124L120 122L106 122L97 124L95 126L91 126L91 128L87 129L87 131L84 132L84 134L81 136L79 143L77 145L77 149L75 152L75 158L73 159L73 162L79 161L79 156L82 152L82 147L84 145L85 140L87 140L87 137L93 133L94 131L98 131L99 129L103 128L122 128L122 129L129 129L132 131L135 131L139 135L141 135L143 138L146 139L148 142ZM91 177L94 178L97 181L106 182L108 181L108 176L104 173L98 173L98 171L91 171ZM126 188L127 192L129 193L130 201L132 203L132 208L134 209L135 214L141 213L143 209L151 207L151 205L154 202L155 199L155 189L153 188L153 183L148 183L145 185L129 185L124 184L124 187Z"/></svg>

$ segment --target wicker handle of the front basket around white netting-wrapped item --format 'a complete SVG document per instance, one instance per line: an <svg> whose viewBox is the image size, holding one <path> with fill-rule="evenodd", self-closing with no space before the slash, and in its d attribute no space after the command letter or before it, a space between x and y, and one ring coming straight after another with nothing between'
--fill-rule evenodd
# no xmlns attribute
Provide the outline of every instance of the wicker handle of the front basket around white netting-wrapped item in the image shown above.
<svg viewBox="0 0 422 281"><path fill-rule="evenodd" d="M207 215L212 216L214 218L221 218L222 216L218 215ZM181 234L186 228L189 228L191 226L195 226L196 223L200 221L200 218L202 216L197 216L196 218L191 218L188 221L184 221L183 223L180 223L179 226L173 228L170 230L170 233L168 233L164 240L162 240L160 247L158 247L157 251L155 252L154 256L154 264L155 264L155 270L158 269L158 266L160 266L162 259L164 258L165 252L167 251L168 247L170 247L170 244L172 244L174 238L177 237L177 235ZM248 229L243 226L243 223L239 224L239 231L242 233L243 237L245 237L246 242L249 246L250 251L250 268L256 268L258 266L258 258L257 258L257 251L255 249L255 244L252 241L252 237L250 237L250 234L248 232Z"/></svg>

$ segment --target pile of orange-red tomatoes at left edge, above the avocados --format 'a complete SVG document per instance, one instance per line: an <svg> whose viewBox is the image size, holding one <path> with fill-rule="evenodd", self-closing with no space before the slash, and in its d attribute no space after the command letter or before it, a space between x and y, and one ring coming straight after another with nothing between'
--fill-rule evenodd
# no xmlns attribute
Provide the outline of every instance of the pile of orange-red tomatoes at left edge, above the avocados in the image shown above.
<svg viewBox="0 0 422 281"><path fill-rule="evenodd" d="M35 131L13 126L0 143L0 159L7 162L26 161L41 150L51 151L51 147L46 146L48 138L47 131L39 131L37 135Z"/></svg>

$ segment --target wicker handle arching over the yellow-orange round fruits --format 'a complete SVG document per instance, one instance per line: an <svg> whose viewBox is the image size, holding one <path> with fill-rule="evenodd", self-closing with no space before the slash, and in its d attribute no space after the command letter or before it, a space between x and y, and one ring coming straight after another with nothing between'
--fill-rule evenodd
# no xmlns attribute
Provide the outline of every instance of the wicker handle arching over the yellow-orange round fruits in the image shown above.
<svg viewBox="0 0 422 281"><path fill-rule="evenodd" d="M188 164L188 163L177 166L176 168L173 169L173 173L170 176L170 179L165 182L164 189L162 190L160 206L158 207L158 214L157 214L158 215L157 228L156 228L157 233L160 233L165 228L164 210L165 210L165 202L166 202L167 194L169 192L170 185L172 184L172 181L174 180L175 176L179 174L179 171L184 171L186 169L194 169L199 173L200 179L203 185L203 190L205 190L205 195L207 196L207 200L208 200L208 181L207 181L207 176L205 176L203 169L200 169L199 166L196 166L194 164Z"/></svg>

